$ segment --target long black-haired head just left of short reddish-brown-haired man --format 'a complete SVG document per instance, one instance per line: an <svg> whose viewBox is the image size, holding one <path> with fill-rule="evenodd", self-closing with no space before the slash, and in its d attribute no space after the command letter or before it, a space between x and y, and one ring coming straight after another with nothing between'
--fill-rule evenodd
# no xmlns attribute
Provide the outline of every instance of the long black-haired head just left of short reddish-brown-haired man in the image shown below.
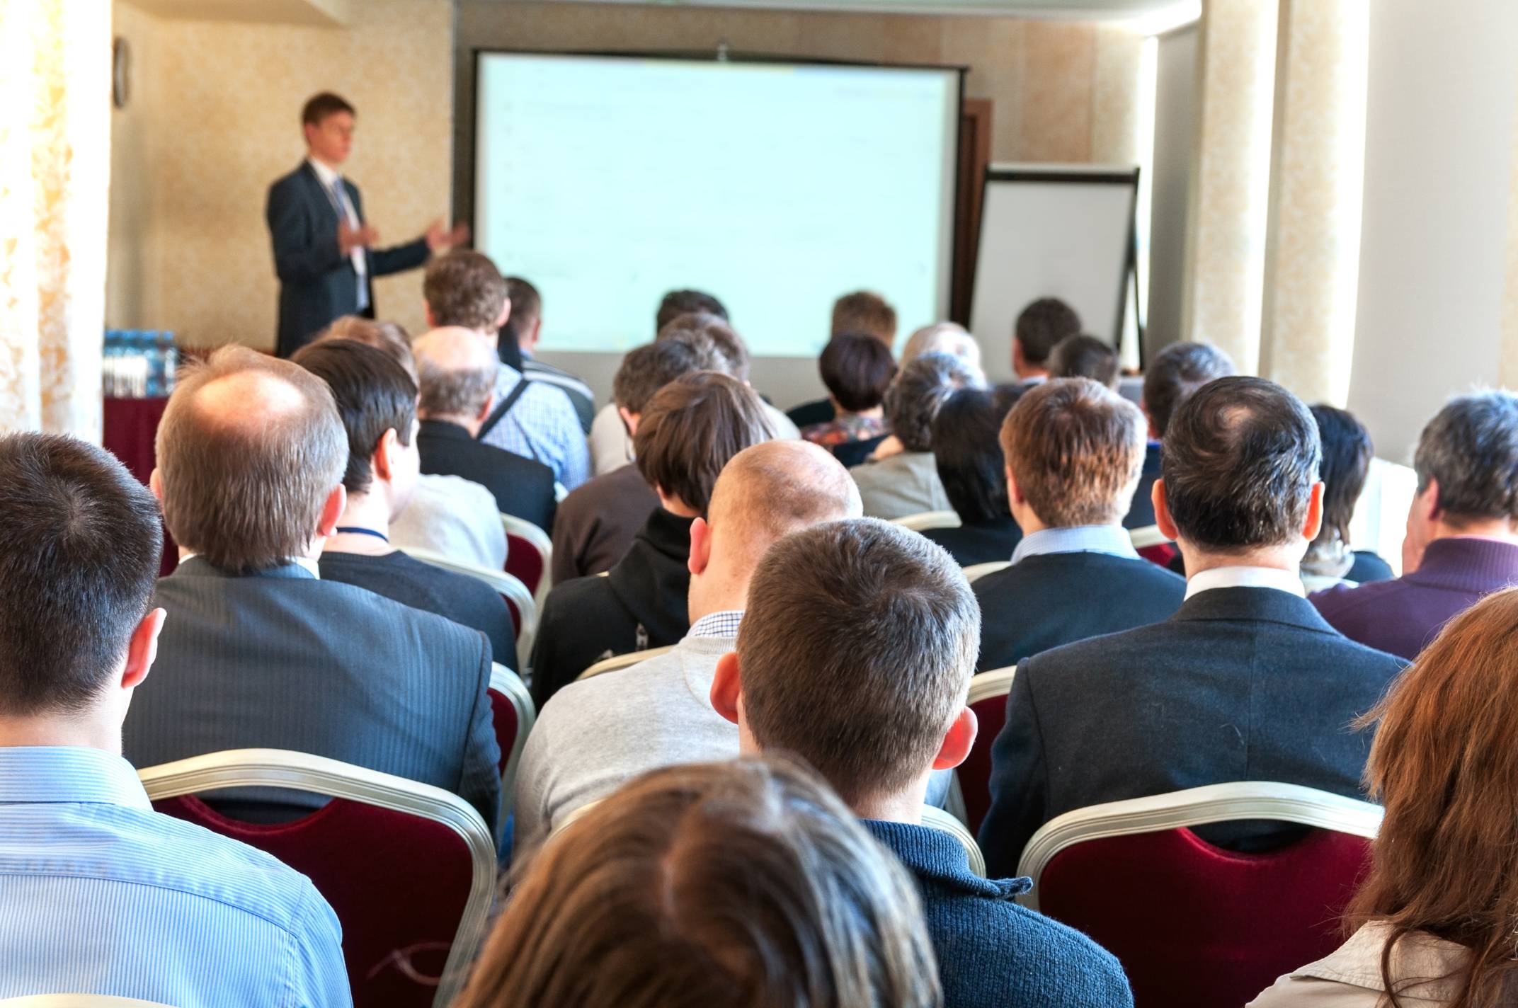
<svg viewBox="0 0 1518 1008"><path fill-rule="evenodd" d="M934 461L949 504L965 524L1011 518L1002 421L1011 404L984 389L961 389L934 417Z"/></svg>

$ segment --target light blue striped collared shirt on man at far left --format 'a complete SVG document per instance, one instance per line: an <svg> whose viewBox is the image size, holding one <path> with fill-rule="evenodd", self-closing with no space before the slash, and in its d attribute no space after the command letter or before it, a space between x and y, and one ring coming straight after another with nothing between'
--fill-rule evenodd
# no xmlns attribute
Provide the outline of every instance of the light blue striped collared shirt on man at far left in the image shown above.
<svg viewBox="0 0 1518 1008"><path fill-rule="evenodd" d="M337 915L275 858L153 812L132 765L0 747L0 997L352 1003Z"/></svg>

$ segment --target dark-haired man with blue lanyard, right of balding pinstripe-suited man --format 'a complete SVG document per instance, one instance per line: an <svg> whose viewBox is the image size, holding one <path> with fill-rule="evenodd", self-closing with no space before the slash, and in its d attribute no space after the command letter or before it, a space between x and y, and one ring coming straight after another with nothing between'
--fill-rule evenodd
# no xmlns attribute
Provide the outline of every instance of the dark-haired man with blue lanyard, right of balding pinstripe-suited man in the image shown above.
<svg viewBox="0 0 1518 1008"><path fill-rule="evenodd" d="M390 545L390 518L407 506L419 471L416 384L384 354L351 340L310 343L290 360L326 383L348 431L348 501L322 547L322 577L474 627L490 639L496 662L516 668L512 613L489 584Z"/></svg>

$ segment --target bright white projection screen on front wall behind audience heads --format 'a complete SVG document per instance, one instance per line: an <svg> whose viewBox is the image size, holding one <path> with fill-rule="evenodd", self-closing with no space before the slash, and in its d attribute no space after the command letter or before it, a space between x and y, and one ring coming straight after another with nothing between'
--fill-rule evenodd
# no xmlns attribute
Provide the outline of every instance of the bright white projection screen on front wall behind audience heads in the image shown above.
<svg viewBox="0 0 1518 1008"><path fill-rule="evenodd" d="M958 123L953 70L481 53L477 247L554 351L647 343L677 287L754 354L814 357L861 288L905 339L949 307Z"/></svg>

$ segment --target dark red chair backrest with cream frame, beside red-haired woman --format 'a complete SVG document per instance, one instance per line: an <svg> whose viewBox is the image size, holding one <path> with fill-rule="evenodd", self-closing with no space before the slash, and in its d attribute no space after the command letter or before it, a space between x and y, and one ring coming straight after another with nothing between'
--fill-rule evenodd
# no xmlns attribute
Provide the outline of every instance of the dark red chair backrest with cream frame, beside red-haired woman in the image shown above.
<svg viewBox="0 0 1518 1008"><path fill-rule="evenodd" d="M1264 853L1190 829L1237 820L1313 829ZM1110 802L1028 841L1019 874L1034 890L1020 899L1116 955L1137 1008L1242 1005L1339 946L1380 821L1378 806L1258 780Z"/></svg>

